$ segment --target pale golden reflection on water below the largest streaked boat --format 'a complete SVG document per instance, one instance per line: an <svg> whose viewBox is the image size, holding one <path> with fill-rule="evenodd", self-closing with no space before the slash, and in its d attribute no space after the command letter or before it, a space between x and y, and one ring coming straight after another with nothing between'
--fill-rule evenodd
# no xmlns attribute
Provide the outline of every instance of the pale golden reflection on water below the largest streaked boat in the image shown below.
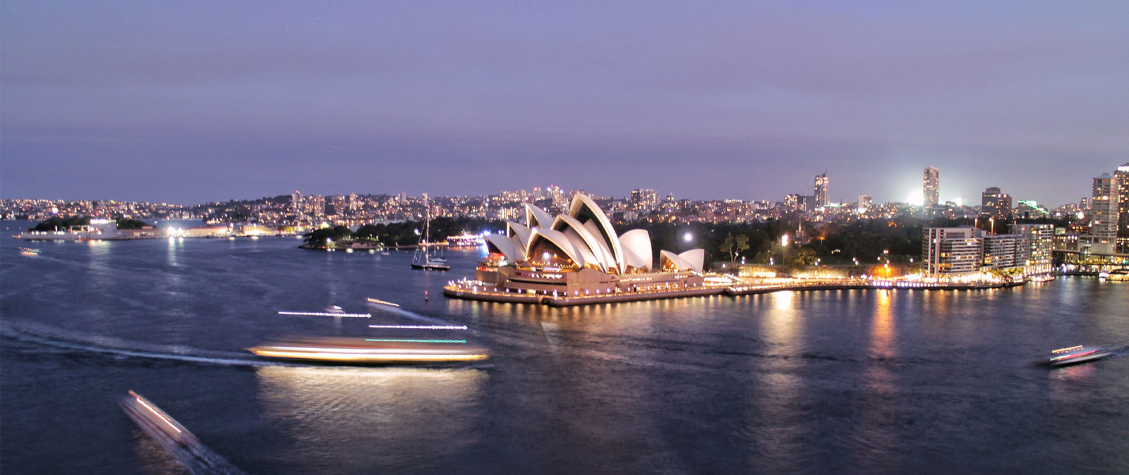
<svg viewBox="0 0 1129 475"><path fill-rule="evenodd" d="M287 461L322 460L318 473L454 466L476 442L487 381L475 369L262 367L256 376L264 417L291 434Z"/></svg>

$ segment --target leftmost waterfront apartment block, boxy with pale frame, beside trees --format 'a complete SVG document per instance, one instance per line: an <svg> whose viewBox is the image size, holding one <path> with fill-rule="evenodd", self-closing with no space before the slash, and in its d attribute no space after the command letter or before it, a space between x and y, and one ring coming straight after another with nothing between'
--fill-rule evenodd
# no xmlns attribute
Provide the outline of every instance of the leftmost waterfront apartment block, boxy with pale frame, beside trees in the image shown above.
<svg viewBox="0 0 1129 475"><path fill-rule="evenodd" d="M922 272L947 278L980 272L983 231L971 226L925 228L921 239Z"/></svg>

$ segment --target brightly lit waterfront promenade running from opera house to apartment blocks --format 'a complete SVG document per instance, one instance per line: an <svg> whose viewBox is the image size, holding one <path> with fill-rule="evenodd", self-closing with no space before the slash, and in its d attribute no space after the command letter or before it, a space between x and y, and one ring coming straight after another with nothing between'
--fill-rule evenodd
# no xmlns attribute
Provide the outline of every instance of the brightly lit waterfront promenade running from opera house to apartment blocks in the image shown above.
<svg viewBox="0 0 1129 475"><path fill-rule="evenodd" d="M739 279L734 276L712 276L702 287L697 288L658 288L640 289L630 292L594 292L586 294L559 294L511 292L496 287L484 285L472 280L449 281L443 288L443 293L450 298L464 300L481 300L509 304L536 304L551 307L571 307L580 305L628 302L642 300L677 299L707 296L749 296L781 291L815 291L815 290L867 290L867 289L917 289L917 290L984 290L1023 285L1026 282L990 281L990 282L922 282L908 280L875 279ZM727 280L728 282L720 282Z"/></svg>

